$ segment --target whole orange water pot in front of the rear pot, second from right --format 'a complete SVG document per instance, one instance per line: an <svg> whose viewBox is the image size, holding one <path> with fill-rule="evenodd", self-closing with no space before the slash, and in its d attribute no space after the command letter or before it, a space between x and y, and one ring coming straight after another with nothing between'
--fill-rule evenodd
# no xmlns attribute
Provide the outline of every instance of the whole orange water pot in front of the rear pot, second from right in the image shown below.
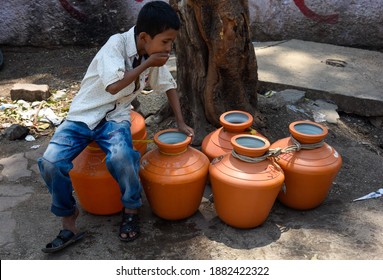
<svg viewBox="0 0 383 280"><path fill-rule="evenodd" d="M240 134L231 143L234 153L214 159L209 167L214 207L226 224L254 228L267 219L284 174L265 156L268 140Z"/></svg>

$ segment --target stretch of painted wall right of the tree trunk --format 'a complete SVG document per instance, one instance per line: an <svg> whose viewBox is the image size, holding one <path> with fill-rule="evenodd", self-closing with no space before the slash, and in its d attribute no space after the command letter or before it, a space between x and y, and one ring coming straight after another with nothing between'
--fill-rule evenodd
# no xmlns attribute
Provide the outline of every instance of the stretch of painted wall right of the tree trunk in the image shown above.
<svg viewBox="0 0 383 280"><path fill-rule="evenodd" d="M249 0L254 40L383 47L382 0Z"/></svg>

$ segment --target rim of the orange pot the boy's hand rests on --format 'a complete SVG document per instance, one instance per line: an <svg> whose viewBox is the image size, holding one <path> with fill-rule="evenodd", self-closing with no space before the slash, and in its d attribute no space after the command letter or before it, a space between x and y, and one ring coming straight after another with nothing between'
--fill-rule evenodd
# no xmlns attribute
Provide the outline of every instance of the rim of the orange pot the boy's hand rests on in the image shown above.
<svg viewBox="0 0 383 280"><path fill-rule="evenodd" d="M168 155L178 155L185 152L191 139L190 136L176 128L161 130L154 135L154 143L159 151Z"/></svg>

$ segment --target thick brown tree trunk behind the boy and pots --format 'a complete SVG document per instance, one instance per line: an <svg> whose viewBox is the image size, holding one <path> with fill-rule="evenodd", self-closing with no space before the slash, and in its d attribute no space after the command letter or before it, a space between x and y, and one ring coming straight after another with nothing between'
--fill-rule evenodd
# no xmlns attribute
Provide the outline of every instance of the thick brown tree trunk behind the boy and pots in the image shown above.
<svg viewBox="0 0 383 280"><path fill-rule="evenodd" d="M200 142L229 110L254 114L257 61L246 0L170 0L181 19L177 81L187 122Z"/></svg>

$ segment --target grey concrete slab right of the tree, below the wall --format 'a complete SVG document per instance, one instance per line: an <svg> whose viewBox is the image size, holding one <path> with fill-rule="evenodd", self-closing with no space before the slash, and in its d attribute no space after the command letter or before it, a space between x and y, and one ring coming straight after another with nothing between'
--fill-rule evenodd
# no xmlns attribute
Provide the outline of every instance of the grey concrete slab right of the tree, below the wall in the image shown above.
<svg viewBox="0 0 383 280"><path fill-rule="evenodd" d="M260 86L304 90L339 110L383 116L383 53L289 40L254 43Z"/></svg>

